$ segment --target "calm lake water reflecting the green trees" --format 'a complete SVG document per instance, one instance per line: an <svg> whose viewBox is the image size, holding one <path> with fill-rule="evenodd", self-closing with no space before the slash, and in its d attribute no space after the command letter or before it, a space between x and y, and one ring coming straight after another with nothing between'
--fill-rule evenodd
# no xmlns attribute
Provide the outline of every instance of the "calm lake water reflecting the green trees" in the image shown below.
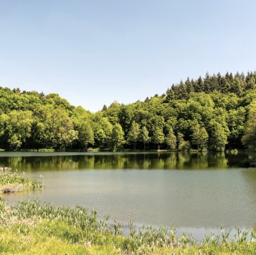
<svg viewBox="0 0 256 255"><path fill-rule="evenodd" d="M253 157L254 155L249 155ZM124 223L207 231L256 226L256 168L246 153L1 152L0 166L43 180L43 190L5 195L82 205ZM41 176L41 178L40 178Z"/></svg>

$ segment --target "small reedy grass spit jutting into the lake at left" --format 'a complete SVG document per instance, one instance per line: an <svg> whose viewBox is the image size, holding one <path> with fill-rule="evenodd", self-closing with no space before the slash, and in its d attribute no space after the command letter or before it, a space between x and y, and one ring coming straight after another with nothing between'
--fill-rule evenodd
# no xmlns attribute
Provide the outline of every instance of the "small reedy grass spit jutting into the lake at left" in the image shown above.
<svg viewBox="0 0 256 255"><path fill-rule="evenodd" d="M19 175L17 170L12 171L9 167L0 167L0 194L39 190L40 188L42 188L41 182L26 178L25 173Z"/></svg>

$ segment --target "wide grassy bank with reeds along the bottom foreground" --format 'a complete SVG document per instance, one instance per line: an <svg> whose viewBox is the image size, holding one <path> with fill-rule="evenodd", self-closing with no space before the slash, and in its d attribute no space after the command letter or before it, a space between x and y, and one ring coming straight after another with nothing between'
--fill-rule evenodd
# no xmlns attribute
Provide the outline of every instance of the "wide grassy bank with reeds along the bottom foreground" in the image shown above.
<svg viewBox="0 0 256 255"><path fill-rule="evenodd" d="M255 233L238 229L206 236L196 243L191 235L178 238L172 228L130 226L124 236L121 224L99 220L82 207L54 207L39 201L9 206L0 199L1 254L256 254Z"/></svg>

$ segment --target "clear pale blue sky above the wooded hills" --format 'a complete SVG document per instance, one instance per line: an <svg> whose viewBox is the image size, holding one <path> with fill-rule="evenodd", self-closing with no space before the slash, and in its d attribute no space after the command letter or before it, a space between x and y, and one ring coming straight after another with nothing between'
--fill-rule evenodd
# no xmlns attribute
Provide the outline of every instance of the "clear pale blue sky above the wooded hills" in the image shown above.
<svg viewBox="0 0 256 255"><path fill-rule="evenodd" d="M97 111L256 68L256 1L0 0L0 86Z"/></svg>

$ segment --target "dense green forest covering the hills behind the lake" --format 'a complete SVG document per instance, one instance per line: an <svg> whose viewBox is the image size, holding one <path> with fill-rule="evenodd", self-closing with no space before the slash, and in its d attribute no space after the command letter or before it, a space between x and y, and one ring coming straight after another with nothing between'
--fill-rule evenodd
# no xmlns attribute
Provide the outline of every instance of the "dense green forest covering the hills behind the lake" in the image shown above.
<svg viewBox="0 0 256 255"><path fill-rule="evenodd" d="M58 94L0 87L0 149L254 150L256 72L180 81L92 113Z"/></svg>

